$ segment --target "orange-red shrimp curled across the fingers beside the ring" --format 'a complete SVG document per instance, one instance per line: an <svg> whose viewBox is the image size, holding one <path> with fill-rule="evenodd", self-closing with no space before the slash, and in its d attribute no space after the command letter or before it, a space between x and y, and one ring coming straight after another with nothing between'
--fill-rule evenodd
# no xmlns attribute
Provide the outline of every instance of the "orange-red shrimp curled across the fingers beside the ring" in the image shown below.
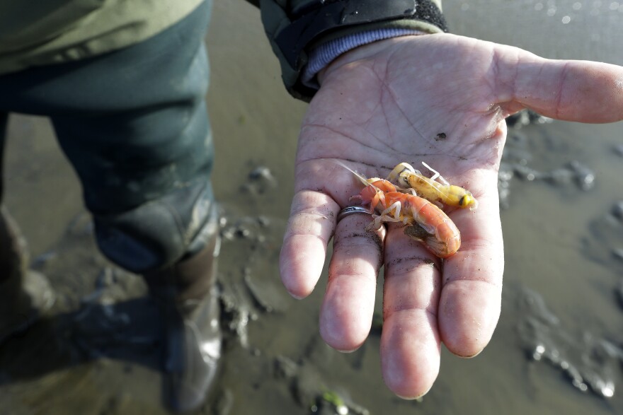
<svg viewBox="0 0 623 415"><path fill-rule="evenodd" d="M423 242L430 252L440 258L455 255L459 250L461 233L438 206L414 194L398 192L387 180L375 178L366 181L370 184L351 199L370 204L370 213L375 220L368 225L369 229L378 229L383 222L402 223L406 226L406 235ZM379 214L375 215L375 211Z"/></svg>

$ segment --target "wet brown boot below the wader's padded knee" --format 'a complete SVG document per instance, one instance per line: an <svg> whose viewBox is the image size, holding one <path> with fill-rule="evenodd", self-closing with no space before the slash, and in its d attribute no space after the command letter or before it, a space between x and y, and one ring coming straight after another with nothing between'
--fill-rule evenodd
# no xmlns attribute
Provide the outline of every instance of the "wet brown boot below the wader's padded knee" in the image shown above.
<svg viewBox="0 0 623 415"><path fill-rule="evenodd" d="M215 230L197 254L144 275L164 316L165 397L175 411L200 407L215 381L222 343L214 284L219 243Z"/></svg>

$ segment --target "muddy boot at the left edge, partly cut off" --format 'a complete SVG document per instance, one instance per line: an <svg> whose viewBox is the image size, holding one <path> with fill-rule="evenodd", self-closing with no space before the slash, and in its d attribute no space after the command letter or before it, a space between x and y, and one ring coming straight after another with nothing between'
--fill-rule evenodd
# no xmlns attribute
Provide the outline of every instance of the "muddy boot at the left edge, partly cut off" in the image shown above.
<svg viewBox="0 0 623 415"><path fill-rule="evenodd" d="M0 207L0 344L28 329L54 302L45 276L28 269L26 242Z"/></svg>

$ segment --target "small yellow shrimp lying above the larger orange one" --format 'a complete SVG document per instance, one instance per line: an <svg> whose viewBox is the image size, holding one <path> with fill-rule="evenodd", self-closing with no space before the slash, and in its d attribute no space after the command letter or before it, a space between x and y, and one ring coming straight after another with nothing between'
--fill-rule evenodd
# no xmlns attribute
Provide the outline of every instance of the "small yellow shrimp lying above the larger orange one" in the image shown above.
<svg viewBox="0 0 623 415"><path fill-rule="evenodd" d="M415 190L419 197L423 197L435 204L442 202L447 206L455 206L462 209L469 208L471 210L478 207L478 201L469 190L450 185L447 180L433 168L430 168L428 164L424 162L422 164L434 173L433 177L428 178L411 167L411 165L400 163L396 165L394 170L391 170L387 180L396 182L402 187L411 188ZM440 181L438 182L436 179Z"/></svg>

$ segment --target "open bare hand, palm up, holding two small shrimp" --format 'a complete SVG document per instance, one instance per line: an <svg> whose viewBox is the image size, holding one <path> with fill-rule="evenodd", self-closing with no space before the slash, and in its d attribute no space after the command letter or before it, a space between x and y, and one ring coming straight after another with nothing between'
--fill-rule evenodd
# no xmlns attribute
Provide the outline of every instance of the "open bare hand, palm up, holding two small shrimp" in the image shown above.
<svg viewBox="0 0 623 415"><path fill-rule="evenodd" d="M568 91L573 85L539 90L548 77L558 80L573 67L557 64L551 74L533 78L514 70L521 68L520 57L528 66L543 64L520 49L452 35L377 42L331 64L304 120L282 279L290 293L307 296L333 235L320 329L328 344L350 351L370 331L375 279L384 265L382 366L385 382L400 396L417 397L430 388L441 342L459 356L474 356L496 326L503 273L496 183L504 117L530 105L550 116L602 121L586 112L579 117L580 108L567 104L577 95ZM623 117L619 105L610 117ZM336 224L337 212L361 185L327 160L332 158L366 177L385 177L400 162L419 168L425 161L469 189L479 209L449 212L462 233L461 250L441 264L400 228L372 236L363 230L370 221L363 215Z"/></svg>

